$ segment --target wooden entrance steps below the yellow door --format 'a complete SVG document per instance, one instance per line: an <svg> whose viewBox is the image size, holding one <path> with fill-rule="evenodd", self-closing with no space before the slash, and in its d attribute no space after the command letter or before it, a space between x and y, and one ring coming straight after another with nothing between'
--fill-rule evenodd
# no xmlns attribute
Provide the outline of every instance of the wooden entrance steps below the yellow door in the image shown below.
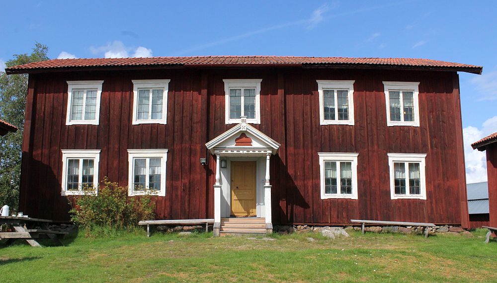
<svg viewBox="0 0 497 283"><path fill-rule="evenodd" d="M255 217L221 218L220 235L265 234L266 219Z"/></svg>

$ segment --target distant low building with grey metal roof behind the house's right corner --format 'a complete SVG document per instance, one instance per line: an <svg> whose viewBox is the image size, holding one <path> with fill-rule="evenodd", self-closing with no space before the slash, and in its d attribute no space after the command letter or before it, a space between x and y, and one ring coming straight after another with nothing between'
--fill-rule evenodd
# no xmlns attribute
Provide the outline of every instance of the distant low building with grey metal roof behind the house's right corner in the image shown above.
<svg viewBox="0 0 497 283"><path fill-rule="evenodd" d="M488 226L490 224L488 182L467 184L466 190L470 228Z"/></svg>

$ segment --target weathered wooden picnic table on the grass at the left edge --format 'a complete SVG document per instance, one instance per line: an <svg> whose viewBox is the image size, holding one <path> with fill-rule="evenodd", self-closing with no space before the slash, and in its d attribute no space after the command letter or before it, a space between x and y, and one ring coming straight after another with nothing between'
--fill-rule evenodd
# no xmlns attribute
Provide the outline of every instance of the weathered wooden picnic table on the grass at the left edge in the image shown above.
<svg viewBox="0 0 497 283"><path fill-rule="evenodd" d="M0 225L7 224L15 230L14 232L0 232L0 243L9 245L16 239L24 239L31 246L40 247L36 239L46 237L63 246L60 239L68 233L51 230L48 227L51 222L52 220L24 216L0 216Z"/></svg>

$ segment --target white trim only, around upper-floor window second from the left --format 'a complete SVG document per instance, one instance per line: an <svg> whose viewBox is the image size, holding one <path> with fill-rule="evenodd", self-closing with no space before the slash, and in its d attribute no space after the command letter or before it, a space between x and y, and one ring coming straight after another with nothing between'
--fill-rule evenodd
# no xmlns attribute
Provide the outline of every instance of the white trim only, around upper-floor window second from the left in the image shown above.
<svg viewBox="0 0 497 283"><path fill-rule="evenodd" d="M133 79L133 125L139 124L167 124L167 94L170 79ZM164 88L164 99L162 104L162 119L137 120L138 111L138 89L140 88ZM152 105L152 101L150 101Z"/></svg>

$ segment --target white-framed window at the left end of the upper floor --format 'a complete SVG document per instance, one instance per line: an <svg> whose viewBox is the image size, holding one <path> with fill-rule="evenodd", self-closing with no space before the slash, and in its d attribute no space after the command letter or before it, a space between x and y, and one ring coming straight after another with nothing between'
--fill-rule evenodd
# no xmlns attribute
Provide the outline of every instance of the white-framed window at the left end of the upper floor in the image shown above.
<svg viewBox="0 0 497 283"><path fill-rule="evenodd" d="M98 125L103 80L68 80L66 125Z"/></svg>

